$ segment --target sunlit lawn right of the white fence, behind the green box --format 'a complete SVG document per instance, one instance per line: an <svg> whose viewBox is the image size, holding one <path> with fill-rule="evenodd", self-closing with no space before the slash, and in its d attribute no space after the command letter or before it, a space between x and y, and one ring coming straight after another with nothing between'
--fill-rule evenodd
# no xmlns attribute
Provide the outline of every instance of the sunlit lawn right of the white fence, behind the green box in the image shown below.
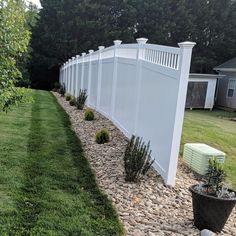
<svg viewBox="0 0 236 236"><path fill-rule="evenodd" d="M236 113L193 110L185 112L181 142L202 142L226 153L225 169L228 179L236 188L236 122L230 121Z"/></svg>

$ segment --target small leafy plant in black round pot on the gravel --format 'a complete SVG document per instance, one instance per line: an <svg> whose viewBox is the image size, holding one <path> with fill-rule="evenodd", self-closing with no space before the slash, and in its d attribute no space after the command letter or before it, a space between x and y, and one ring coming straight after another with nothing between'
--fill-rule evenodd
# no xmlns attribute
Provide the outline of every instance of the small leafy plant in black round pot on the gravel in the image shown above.
<svg viewBox="0 0 236 236"><path fill-rule="evenodd" d="M223 165L215 158L209 160L209 168L203 182L189 188L192 193L194 225L199 229L220 232L236 203L236 192L223 185Z"/></svg>

